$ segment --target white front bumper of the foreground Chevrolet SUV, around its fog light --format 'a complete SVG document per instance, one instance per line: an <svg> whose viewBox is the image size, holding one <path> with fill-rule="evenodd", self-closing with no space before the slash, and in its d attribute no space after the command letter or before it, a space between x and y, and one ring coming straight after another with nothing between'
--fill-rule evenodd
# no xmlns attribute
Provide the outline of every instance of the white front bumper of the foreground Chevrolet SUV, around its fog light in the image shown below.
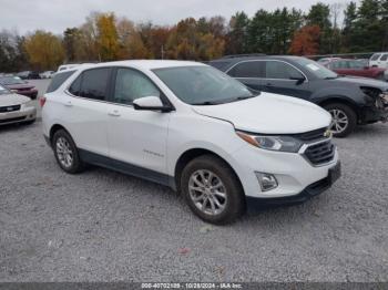
<svg viewBox="0 0 388 290"><path fill-rule="evenodd" d="M232 164L236 172L245 196L248 198L274 199L297 196L309 185L329 176L329 172L338 164L338 152L334 149L333 159L326 164L314 166L299 153L263 151L249 144L244 145L233 155ZM255 173L274 175L278 186L262 191Z"/></svg>

